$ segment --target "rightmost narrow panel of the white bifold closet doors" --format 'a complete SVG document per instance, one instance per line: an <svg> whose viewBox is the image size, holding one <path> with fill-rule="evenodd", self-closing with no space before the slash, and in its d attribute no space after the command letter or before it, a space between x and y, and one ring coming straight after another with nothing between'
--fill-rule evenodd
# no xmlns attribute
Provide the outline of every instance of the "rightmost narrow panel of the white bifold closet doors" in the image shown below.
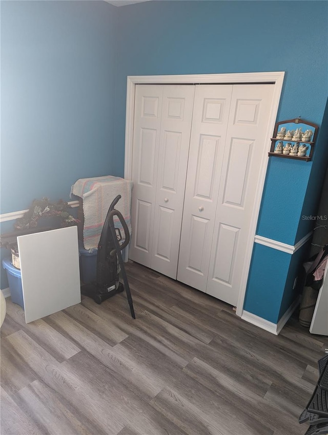
<svg viewBox="0 0 328 435"><path fill-rule="evenodd" d="M274 86L234 85L220 173L207 293L237 305L255 194L267 155Z"/></svg>

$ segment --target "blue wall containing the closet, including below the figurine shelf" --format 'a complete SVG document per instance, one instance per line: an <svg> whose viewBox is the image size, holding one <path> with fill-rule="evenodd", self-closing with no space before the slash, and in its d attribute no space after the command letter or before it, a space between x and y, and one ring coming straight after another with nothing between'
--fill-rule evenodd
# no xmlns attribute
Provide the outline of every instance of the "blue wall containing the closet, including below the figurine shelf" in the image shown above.
<svg viewBox="0 0 328 435"><path fill-rule="evenodd" d="M118 39L116 81L119 175L124 173L128 75L285 71L278 120L301 116L321 125L328 96L328 4L285 1L281 5L271 1L174 1L119 8L119 28L123 29ZM311 31L302 27L305 23L311 23ZM316 213L326 137L325 130L310 163L269 159L258 235L294 245L311 230L300 219L305 209ZM304 249L290 255L254 245L245 310L278 322L296 297L293 282L306 255Z"/></svg>

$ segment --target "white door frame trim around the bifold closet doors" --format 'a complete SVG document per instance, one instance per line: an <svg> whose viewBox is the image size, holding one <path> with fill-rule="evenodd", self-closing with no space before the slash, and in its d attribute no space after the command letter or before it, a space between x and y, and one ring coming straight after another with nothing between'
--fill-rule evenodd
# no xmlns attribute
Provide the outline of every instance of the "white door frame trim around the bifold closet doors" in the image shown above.
<svg viewBox="0 0 328 435"><path fill-rule="evenodd" d="M235 74L191 74L191 75L169 75L169 76L128 76L127 80L127 112L126 112L126 132L125 132L125 165L124 165L124 177L128 180L132 178L132 147L133 147L133 120L134 120L134 95L136 84L198 84L198 83L274 83L274 93L271 105L269 124L267 134L265 135L265 141L267 141L267 148L263 148L262 155L262 168L259 177L258 188L255 197L254 213L250 226L250 233L248 237L245 260L241 275L240 292L238 296L237 316L242 315L243 303L245 298L245 292L247 287L247 280L251 265L251 257L253 251L254 237L256 232L257 220L260 211L265 174L267 173L268 166L268 151L270 151L272 132L274 130L278 106L280 101L280 95L283 84L283 71L264 72L264 73L235 73Z"/></svg>

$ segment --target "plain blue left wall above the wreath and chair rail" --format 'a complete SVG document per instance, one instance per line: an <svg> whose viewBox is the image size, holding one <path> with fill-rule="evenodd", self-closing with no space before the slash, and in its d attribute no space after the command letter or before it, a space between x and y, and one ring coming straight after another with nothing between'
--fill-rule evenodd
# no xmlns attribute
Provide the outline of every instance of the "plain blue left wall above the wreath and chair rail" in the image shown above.
<svg viewBox="0 0 328 435"><path fill-rule="evenodd" d="M113 171L116 12L1 2L1 213Z"/></svg>

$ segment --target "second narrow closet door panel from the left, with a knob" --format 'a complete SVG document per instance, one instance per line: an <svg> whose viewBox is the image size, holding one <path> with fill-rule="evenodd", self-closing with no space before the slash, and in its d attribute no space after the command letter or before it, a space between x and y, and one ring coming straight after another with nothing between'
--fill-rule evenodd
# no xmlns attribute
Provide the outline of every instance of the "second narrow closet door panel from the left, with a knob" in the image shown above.
<svg viewBox="0 0 328 435"><path fill-rule="evenodd" d="M151 268L176 279L195 86L163 86Z"/></svg>

